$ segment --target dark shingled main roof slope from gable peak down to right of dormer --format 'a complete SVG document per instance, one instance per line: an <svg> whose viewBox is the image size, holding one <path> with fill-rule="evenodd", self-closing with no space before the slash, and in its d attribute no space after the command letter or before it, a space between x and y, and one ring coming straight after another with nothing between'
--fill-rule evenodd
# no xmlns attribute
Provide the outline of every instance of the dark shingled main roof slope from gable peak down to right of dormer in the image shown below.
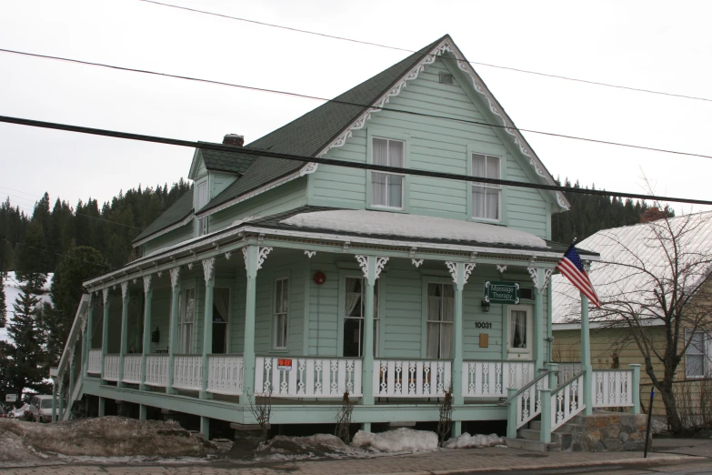
<svg viewBox="0 0 712 475"><path fill-rule="evenodd" d="M426 57L436 45L447 36L427 45L420 51L406 57L403 61L389 67L376 76L367 79L360 85L336 96L334 101L371 105L396 85L413 67ZM257 139L246 148L269 150L276 153L316 157L316 154L341 135L368 106L352 106L339 102L327 102L316 107L311 112L297 118L286 126L279 127L274 132ZM270 157L251 157L254 163L222 193L214 197L201 211L214 207L266 185L279 177L295 173L304 167L304 163Z"/></svg>

